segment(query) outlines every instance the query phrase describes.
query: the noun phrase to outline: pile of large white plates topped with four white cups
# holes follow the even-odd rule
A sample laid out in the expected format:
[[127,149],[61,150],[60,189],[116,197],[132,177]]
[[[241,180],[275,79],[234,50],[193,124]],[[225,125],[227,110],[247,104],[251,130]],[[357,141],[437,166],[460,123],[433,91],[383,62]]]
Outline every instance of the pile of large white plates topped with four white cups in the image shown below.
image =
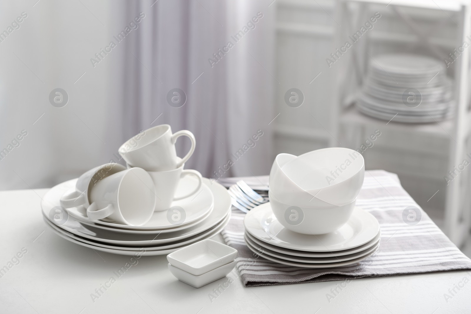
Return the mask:
[[[180,136],[191,140],[183,158]],[[122,255],[165,255],[211,238],[227,225],[231,199],[222,185],[184,169],[194,150],[190,131],[147,129],[120,147],[127,167],[104,164],[51,188],[44,220],[68,241]]]

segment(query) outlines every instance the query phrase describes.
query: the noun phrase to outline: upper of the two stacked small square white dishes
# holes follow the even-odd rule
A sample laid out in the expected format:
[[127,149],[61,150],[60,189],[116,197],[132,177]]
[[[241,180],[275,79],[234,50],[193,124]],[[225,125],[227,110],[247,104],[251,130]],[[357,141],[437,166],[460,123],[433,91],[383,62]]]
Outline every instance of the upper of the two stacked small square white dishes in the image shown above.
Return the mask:
[[220,242],[206,239],[167,255],[171,266],[199,276],[232,262],[237,250]]

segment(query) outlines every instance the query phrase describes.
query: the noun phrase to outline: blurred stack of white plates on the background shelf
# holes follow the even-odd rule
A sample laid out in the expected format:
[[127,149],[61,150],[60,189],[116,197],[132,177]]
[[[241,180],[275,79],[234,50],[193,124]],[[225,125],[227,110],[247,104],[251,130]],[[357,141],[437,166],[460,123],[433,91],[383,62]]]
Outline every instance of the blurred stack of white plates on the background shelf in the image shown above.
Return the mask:
[[374,118],[397,122],[436,122],[451,116],[451,80],[445,64],[428,56],[375,56],[368,66],[357,106]]

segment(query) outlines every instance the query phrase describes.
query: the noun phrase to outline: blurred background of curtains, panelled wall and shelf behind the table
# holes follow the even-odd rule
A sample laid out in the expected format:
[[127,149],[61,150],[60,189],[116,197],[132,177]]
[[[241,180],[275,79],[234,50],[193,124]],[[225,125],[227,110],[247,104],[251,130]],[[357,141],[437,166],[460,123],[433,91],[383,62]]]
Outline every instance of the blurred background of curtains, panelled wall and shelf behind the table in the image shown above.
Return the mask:
[[[51,187],[122,163],[119,146],[159,124],[193,132],[186,168],[213,178],[268,175],[278,153],[343,146],[360,150],[366,169],[397,173],[452,241],[471,250],[467,5],[2,1],[0,188]],[[434,113],[424,118],[402,104],[393,77],[398,86],[387,86],[395,71],[388,54],[431,58],[431,73],[439,67],[417,107]],[[406,61],[398,75],[420,79],[400,73],[416,65]],[[395,115],[383,103],[400,108]],[[248,143],[254,134],[262,135]],[[178,142],[180,156],[186,141]]]

